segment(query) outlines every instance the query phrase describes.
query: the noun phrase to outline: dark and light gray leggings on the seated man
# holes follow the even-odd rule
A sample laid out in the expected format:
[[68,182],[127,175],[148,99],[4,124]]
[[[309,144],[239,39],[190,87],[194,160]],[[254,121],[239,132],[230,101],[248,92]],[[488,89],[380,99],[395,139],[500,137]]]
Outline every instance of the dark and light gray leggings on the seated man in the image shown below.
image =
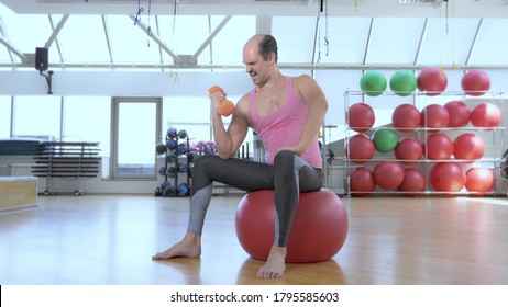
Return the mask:
[[275,190],[275,242],[286,247],[300,192],[318,191],[322,186],[321,170],[289,150],[279,151],[274,164],[242,159],[202,156],[197,159],[190,189],[190,216],[187,231],[201,236],[205,215],[210,204],[212,183],[247,191]]

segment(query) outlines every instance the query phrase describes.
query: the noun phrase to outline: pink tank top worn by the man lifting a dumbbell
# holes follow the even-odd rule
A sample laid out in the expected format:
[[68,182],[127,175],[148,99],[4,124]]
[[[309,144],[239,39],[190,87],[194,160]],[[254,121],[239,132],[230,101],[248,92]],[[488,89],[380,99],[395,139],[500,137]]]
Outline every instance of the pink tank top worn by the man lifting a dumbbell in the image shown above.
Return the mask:
[[[251,122],[254,132],[263,140],[265,161],[268,164],[274,163],[278,148],[298,143],[307,121],[308,105],[295,93],[291,77],[286,77],[286,88],[288,92],[286,102],[267,115],[257,114],[256,91],[253,89],[251,92]],[[313,168],[322,168],[318,135],[301,155],[301,158]]]

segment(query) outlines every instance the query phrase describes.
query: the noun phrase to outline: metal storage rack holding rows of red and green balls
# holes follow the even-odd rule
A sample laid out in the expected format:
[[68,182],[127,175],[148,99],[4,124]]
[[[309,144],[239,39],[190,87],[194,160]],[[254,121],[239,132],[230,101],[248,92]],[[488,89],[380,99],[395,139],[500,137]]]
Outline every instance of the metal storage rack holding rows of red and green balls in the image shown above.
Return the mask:
[[[376,109],[379,109],[380,103],[386,104],[386,110],[391,110],[395,109],[397,105],[404,104],[404,103],[412,103],[415,106],[417,106],[420,111],[424,110],[426,106],[430,104],[445,104],[445,102],[450,101],[463,101],[465,102],[471,110],[474,109],[474,106],[479,105],[482,103],[489,103],[496,105],[501,114],[503,114],[503,91],[488,91],[485,94],[477,95],[477,96],[471,96],[465,94],[464,92],[461,91],[444,91],[440,93],[440,95],[427,95],[426,92],[418,92],[415,91],[411,93],[411,95],[404,96],[401,98],[400,95],[397,95],[393,92],[385,91],[382,94],[372,98],[372,96],[366,96],[363,91],[345,91],[344,92],[344,114],[347,114],[349,109],[351,105],[355,103],[367,103],[369,105],[376,105]],[[399,103],[400,102],[400,103]],[[377,115],[377,114],[376,114]],[[347,115],[346,115],[347,116]],[[377,117],[377,116],[376,116]],[[364,134],[365,136],[372,138],[372,135],[382,128],[389,128],[395,130],[399,139],[404,137],[415,137],[418,140],[420,140],[422,144],[428,139],[430,135],[435,133],[435,128],[429,128],[424,126],[418,126],[411,129],[411,132],[407,132],[407,129],[401,129],[397,128],[393,125],[390,120],[386,118],[376,118],[376,123],[372,127],[363,127],[365,128],[363,132],[358,133],[355,130],[355,127],[349,126],[347,121],[344,125],[344,145],[347,144],[347,141],[356,134]],[[380,120],[380,121],[379,121]],[[385,121],[386,120],[386,121]],[[457,138],[461,134],[470,133],[470,134],[476,134],[482,137],[482,139],[485,141],[485,155],[476,160],[462,160],[462,159],[456,159],[453,155],[450,157],[450,159],[445,160],[433,160],[429,159],[429,152],[427,151],[428,148],[423,146],[423,156],[421,159],[418,160],[400,160],[397,159],[394,155],[393,151],[390,152],[379,152],[378,150],[375,151],[374,157],[367,160],[355,160],[351,159],[350,157],[350,149],[345,149],[344,151],[344,160],[343,160],[343,167],[344,167],[344,177],[343,177],[343,186],[344,186],[344,192],[346,196],[353,196],[356,192],[356,194],[398,194],[398,195],[485,195],[485,196],[506,196],[508,195],[508,150],[505,151],[504,149],[504,133],[505,133],[505,127],[506,123],[501,123],[498,126],[494,127],[482,127],[482,126],[474,126],[471,122],[466,126],[462,127],[442,127],[439,128],[439,133],[445,134],[450,136],[452,140]],[[346,148],[346,147],[345,147]],[[505,154],[504,154],[505,151]],[[426,189],[423,191],[415,191],[415,193],[406,193],[404,191],[399,191],[397,189],[393,190],[386,190],[382,189],[376,184],[375,190],[373,191],[352,191],[351,189],[351,178],[350,173],[353,169],[358,168],[358,167],[365,167],[371,170],[374,169],[374,167],[377,163],[384,162],[384,161],[393,161],[397,163],[401,163],[404,169],[409,169],[409,168],[416,168],[420,170],[426,178]],[[407,162],[411,162],[410,164]],[[472,168],[487,168],[490,169],[494,172],[494,189],[488,192],[476,192],[476,191],[468,191],[466,186],[464,185],[463,189],[460,191],[437,191],[431,183],[430,180],[430,172],[432,168],[441,162],[456,162],[461,164],[464,168],[464,172],[466,172],[468,169]]]

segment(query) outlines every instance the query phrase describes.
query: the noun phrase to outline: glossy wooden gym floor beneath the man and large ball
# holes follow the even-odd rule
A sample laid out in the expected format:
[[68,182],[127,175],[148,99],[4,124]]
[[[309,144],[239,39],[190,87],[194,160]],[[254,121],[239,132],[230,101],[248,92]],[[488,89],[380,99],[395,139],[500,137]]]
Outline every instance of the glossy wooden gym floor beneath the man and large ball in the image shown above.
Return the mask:
[[0,284],[508,284],[505,197],[343,198],[342,250],[280,280],[256,278],[236,240],[240,197],[212,198],[200,259],[152,261],[185,232],[188,198],[40,196],[0,214]]

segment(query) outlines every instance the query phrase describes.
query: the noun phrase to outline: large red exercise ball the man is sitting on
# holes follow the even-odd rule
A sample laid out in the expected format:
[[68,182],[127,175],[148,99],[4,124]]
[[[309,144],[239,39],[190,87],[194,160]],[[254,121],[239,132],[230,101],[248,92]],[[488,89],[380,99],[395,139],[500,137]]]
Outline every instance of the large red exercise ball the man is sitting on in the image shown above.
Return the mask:
[[[274,191],[249,192],[239,203],[235,230],[252,258],[266,260],[275,239]],[[288,237],[286,262],[324,261],[335,255],[347,236],[347,212],[335,193],[322,189],[300,193]]]

